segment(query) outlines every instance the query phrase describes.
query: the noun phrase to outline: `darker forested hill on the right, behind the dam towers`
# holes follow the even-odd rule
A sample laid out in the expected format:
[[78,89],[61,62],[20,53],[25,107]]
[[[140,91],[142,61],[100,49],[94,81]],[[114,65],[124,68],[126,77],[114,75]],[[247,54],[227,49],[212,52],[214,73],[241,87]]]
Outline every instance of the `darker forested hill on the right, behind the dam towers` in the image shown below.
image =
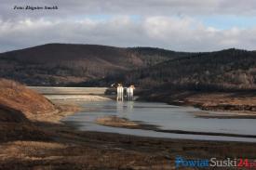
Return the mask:
[[[147,88],[166,86],[196,90],[255,89],[256,52],[226,49],[170,59],[155,66],[98,81],[120,82]],[[95,83],[95,82],[94,82]]]

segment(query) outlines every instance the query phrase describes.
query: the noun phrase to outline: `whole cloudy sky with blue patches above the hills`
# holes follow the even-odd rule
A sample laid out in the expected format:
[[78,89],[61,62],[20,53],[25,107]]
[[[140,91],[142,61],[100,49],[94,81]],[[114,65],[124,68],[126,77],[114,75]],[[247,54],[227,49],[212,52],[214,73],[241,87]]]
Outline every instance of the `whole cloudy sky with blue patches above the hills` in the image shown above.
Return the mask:
[[[0,52],[47,43],[256,50],[255,0],[0,0]],[[53,7],[25,10],[14,7]]]

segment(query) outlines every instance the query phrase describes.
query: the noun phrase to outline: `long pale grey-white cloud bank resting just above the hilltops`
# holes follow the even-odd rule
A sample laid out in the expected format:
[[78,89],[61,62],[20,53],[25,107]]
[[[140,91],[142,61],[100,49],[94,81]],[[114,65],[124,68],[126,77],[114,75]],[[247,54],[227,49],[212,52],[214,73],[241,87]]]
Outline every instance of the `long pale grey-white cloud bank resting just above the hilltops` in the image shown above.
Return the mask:
[[148,17],[141,22],[128,17],[75,22],[22,20],[15,26],[14,23],[1,23],[0,45],[3,46],[0,50],[47,43],[158,46],[179,51],[212,51],[229,47],[255,49],[256,38],[251,36],[255,34],[256,28],[217,30],[192,18]]

